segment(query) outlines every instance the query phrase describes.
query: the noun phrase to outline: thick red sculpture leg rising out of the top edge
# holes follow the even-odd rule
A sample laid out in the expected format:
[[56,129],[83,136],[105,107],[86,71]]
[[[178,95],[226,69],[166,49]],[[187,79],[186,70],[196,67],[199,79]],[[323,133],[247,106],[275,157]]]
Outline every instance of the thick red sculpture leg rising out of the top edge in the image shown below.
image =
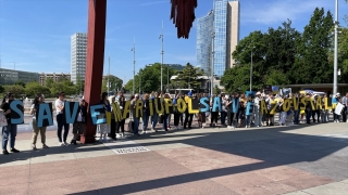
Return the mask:
[[[107,0],[89,0],[88,4],[88,31],[87,31],[87,63],[85,76],[84,98],[88,105],[100,102],[102,73],[104,64],[107,25]],[[88,106],[89,107],[89,106]],[[86,131],[80,138],[82,143],[96,141],[96,126],[92,125],[89,109],[87,110]]]

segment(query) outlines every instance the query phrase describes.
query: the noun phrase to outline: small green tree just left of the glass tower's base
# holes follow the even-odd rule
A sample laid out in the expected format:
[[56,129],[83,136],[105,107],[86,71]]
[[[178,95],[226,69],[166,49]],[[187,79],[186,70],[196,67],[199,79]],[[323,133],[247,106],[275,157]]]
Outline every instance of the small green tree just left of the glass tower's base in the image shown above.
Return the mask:
[[177,87],[185,89],[198,89],[201,86],[199,76],[202,76],[200,68],[194,67],[191,64],[187,63],[183,72],[178,73],[175,82]]

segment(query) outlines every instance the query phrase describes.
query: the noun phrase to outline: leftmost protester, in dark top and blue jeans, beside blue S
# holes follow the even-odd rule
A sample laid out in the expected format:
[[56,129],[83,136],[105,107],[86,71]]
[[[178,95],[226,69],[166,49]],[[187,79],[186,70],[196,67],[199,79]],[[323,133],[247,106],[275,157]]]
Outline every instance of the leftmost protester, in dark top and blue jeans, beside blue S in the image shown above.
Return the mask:
[[8,93],[1,104],[1,109],[8,120],[8,126],[2,127],[2,154],[8,155],[8,141],[10,140],[10,151],[12,153],[18,153],[20,151],[14,148],[15,136],[17,134],[17,125],[11,122],[11,112],[10,103],[14,100],[13,93]]

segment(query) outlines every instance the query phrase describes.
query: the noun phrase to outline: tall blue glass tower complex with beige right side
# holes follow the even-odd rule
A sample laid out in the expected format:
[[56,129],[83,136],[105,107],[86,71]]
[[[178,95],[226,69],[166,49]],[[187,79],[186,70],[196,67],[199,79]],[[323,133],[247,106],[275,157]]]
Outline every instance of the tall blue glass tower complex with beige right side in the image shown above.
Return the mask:
[[[235,62],[232,58],[232,53],[239,41],[239,10],[238,0],[214,0],[213,12],[197,20],[198,67],[210,73],[212,56],[214,56],[214,75],[222,76],[225,69],[233,67]],[[213,17],[213,22],[211,22],[211,17]],[[208,24],[212,24],[213,27],[211,28]],[[213,43],[211,35],[214,35]],[[209,51],[209,54],[204,51]],[[211,54],[212,52],[214,55]]]

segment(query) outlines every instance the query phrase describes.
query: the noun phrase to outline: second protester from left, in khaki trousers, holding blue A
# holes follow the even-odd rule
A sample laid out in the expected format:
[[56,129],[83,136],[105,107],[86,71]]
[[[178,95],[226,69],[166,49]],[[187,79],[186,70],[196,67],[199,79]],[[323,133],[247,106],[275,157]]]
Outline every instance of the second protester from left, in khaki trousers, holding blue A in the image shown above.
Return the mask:
[[35,100],[33,101],[33,105],[30,107],[30,115],[33,115],[33,138],[32,138],[32,148],[33,151],[36,151],[36,141],[37,141],[37,136],[40,132],[41,135],[41,143],[42,143],[42,148],[48,148],[48,146],[46,145],[46,127],[37,127],[37,122],[36,122],[36,112],[39,108],[39,104],[42,104],[44,102],[44,96],[42,94],[38,94]]

